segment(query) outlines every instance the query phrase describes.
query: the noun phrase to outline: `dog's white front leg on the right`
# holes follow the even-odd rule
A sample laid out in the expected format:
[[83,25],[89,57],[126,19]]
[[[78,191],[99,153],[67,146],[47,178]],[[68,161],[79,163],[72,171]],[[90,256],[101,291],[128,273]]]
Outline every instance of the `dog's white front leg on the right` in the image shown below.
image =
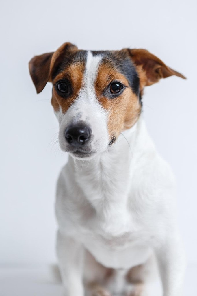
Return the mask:
[[156,249],[164,296],[183,294],[185,252],[179,238],[171,237]]

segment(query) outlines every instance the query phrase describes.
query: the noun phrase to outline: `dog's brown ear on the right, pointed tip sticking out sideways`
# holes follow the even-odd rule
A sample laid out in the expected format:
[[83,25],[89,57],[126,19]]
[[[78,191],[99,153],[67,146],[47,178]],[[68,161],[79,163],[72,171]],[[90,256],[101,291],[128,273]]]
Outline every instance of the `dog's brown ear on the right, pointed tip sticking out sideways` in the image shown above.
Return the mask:
[[161,78],[172,75],[186,79],[185,76],[167,67],[164,62],[146,49],[128,49],[128,51],[138,73],[140,72],[139,76],[143,78],[143,86],[154,84]]

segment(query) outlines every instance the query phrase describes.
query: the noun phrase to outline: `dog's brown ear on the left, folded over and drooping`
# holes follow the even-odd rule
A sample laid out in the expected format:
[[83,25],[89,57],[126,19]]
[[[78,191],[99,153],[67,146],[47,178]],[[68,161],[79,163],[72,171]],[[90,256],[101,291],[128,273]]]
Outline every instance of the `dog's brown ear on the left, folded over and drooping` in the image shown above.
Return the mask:
[[66,42],[60,46],[56,52],[49,52],[33,57],[29,62],[29,71],[37,94],[39,94],[46,83],[50,81],[51,71],[54,66],[61,60],[62,55],[68,50],[76,50],[74,44]]

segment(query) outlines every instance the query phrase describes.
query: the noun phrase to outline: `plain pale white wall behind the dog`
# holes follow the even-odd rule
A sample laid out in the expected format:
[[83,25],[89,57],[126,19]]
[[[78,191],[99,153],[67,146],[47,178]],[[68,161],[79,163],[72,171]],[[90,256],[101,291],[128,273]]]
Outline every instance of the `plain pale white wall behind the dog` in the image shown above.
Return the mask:
[[67,156],[52,141],[51,85],[36,94],[28,61],[65,41],[146,48],[188,78],[147,87],[143,111],[177,177],[180,229],[188,260],[197,263],[196,13],[193,0],[1,3],[1,266],[56,262],[55,185]]

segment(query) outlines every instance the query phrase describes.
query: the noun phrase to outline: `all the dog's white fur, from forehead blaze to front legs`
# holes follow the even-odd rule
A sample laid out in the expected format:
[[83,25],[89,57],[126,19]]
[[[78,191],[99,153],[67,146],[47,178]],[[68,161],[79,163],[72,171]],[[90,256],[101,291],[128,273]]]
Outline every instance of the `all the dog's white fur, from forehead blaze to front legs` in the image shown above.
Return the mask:
[[[83,277],[99,278],[96,270],[101,263],[117,270],[111,287],[121,293],[121,274],[154,255],[163,295],[180,296],[184,256],[176,225],[174,177],[156,152],[142,117],[107,150],[107,113],[93,89],[100,59],[88,53],[83,88],[66,114],[58,115],[63,150],[64,130],[75,118],[91,125],[91,149],[96,151],[88,160],[69,156],[57,184],[57,254],[64,288],[68,296],[83,296]],[[98,262],[91,270],[88,253]],[[120,268],[125,272],[118,272]],[[145,295],[153,294],[147,289]]]

